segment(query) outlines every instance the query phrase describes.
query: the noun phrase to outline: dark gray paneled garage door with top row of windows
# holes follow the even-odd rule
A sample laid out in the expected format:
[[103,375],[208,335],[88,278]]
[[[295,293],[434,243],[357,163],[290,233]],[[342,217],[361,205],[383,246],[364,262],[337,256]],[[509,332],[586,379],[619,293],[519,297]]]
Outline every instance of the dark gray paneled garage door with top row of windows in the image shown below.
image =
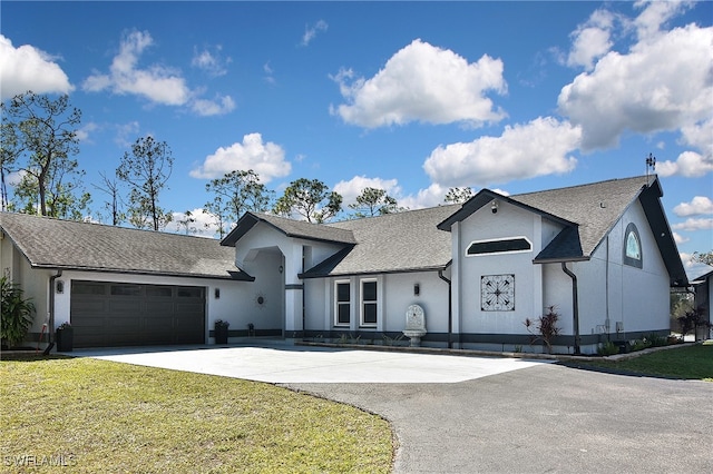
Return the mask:
[[205,288],[71,283],[75,347],[203,344]]

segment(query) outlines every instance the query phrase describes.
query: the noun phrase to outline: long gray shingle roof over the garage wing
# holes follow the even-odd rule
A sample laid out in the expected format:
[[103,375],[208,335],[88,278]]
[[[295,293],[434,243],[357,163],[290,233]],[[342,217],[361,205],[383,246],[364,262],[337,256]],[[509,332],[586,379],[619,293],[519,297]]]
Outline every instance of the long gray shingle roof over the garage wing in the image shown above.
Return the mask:
[[10,213],[0,227],[36,268],[251,279],[214,239]]

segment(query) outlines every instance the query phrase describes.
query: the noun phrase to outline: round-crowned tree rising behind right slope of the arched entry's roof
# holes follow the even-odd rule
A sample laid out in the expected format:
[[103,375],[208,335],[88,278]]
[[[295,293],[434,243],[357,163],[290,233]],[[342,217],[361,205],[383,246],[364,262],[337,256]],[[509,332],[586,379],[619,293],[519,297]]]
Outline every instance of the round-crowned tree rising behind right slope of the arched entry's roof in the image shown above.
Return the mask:
[[300,178],[292,181],[275,203],[274,213],[289,216],[293,211],[307,223],[325,223],[342,210],[342,196],[329,190],[319,179]]

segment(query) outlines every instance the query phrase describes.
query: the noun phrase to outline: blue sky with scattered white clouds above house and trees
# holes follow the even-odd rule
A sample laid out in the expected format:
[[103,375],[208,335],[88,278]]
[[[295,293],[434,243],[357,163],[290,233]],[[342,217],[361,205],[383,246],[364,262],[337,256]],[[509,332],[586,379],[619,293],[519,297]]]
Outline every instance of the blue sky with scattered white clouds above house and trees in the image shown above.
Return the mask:
[[175,158],[160,205],[198,215],[207,180],[233,169],[277,195],[316,178],[345,204],[371,186],[419,208],[456,186],[644,175],[653,154],[684,263],[713,248],[712,2],[3,1],[0,14],[2,100],[69,93],[95,209],[99,172],[147,135]]

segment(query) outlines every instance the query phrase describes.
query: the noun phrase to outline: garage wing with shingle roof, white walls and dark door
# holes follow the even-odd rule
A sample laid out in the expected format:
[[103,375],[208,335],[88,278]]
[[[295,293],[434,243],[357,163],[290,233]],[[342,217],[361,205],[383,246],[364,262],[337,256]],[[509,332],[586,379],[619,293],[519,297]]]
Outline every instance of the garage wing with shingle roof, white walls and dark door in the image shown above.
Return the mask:
[[0,211],[0,274],[35,302],[38,347],[65,323],[77,348],[206,344],[217,319],[272,329],[241,305],[254,278],[235,249],[209,238]]

